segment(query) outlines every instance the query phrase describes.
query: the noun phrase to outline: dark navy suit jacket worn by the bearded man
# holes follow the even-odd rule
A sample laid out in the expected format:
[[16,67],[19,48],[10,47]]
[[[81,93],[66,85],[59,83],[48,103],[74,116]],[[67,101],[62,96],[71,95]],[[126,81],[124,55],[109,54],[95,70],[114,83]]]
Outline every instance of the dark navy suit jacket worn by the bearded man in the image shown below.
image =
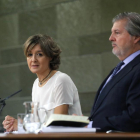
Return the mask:
[[[99,87],[95,102],[107,78]],[[104,87],[89,119],[93,127],[103,131],[140,131],[140,55]]]

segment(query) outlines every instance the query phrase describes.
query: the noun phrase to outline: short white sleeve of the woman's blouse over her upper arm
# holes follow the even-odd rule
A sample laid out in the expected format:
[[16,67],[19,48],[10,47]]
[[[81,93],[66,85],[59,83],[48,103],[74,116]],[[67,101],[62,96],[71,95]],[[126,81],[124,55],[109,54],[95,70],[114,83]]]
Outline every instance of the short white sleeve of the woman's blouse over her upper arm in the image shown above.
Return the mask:
[[60,75],[55,83],[55,107],[62,104],[73,105],[74,89],[76,87],[71,78],[66,74]]

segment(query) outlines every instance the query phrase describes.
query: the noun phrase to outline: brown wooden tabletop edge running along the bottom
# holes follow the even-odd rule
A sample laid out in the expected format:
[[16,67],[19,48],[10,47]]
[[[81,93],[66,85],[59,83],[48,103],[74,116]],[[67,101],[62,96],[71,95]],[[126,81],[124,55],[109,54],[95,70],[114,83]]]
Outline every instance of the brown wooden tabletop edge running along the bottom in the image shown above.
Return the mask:
[[40,133],[40,134],[6,134],[1,140],[140,140],[140,133]]

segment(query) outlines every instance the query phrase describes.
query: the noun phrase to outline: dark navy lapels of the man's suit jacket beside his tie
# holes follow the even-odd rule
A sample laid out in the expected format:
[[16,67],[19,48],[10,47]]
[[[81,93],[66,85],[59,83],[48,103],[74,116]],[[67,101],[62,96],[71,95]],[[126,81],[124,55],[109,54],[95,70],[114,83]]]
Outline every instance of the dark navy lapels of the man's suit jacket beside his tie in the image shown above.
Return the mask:
[[[102,104],[102,102],[104,101],[105,97],[108,95],[109,91],[115,86],[115,84],[117,84],[124,76],[126,76],[131,70],[132,68],[137,65],[138,63],[140,63],[140,55],[138,55],[134,60],[132,60],[128,65],[126,65],[116,76],[113,77],[113,79],[111,79],[107,85],[104,87],[104,89],[102,90],[102,93],[99,97],[99,100],[96,103],[96,106],[94,104],[94,110],[93,113],[96,112],[96,110],[99,108],[99,106]],[[112,73],[112,71],[111,71]],[[111,74],[110,73],[110,74]],[[108,75],[108,77],[110,76],[110,74]],[[107,77],[107,78],[108,78]],[[101,90],[101,88],[103,87],[105,81],[107,80],[107,78],[104,80],[104,82],[102,83],[102,85],[100,86],[99,90],[98,90],[98,94]],[[97,94],[97,96],[98,96]],[[97,96],[95,98],[95,102],[97,100]]]

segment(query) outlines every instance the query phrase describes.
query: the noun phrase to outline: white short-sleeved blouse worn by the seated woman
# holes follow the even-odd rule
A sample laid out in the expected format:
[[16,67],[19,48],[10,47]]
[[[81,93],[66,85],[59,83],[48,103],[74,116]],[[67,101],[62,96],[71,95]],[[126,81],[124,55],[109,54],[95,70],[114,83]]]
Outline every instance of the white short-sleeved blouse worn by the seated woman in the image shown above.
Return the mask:
[[38,86],[38,82],[37,78],[33,84],[32,101],[39,102],[39,107],[47,112],[46,117],[45,110],[41,109],[42,122],[48,120],[54,108],[63,104],[69,105],[69,115],[82,115],[77,88],[67,74],[57,71],[42,87]]

